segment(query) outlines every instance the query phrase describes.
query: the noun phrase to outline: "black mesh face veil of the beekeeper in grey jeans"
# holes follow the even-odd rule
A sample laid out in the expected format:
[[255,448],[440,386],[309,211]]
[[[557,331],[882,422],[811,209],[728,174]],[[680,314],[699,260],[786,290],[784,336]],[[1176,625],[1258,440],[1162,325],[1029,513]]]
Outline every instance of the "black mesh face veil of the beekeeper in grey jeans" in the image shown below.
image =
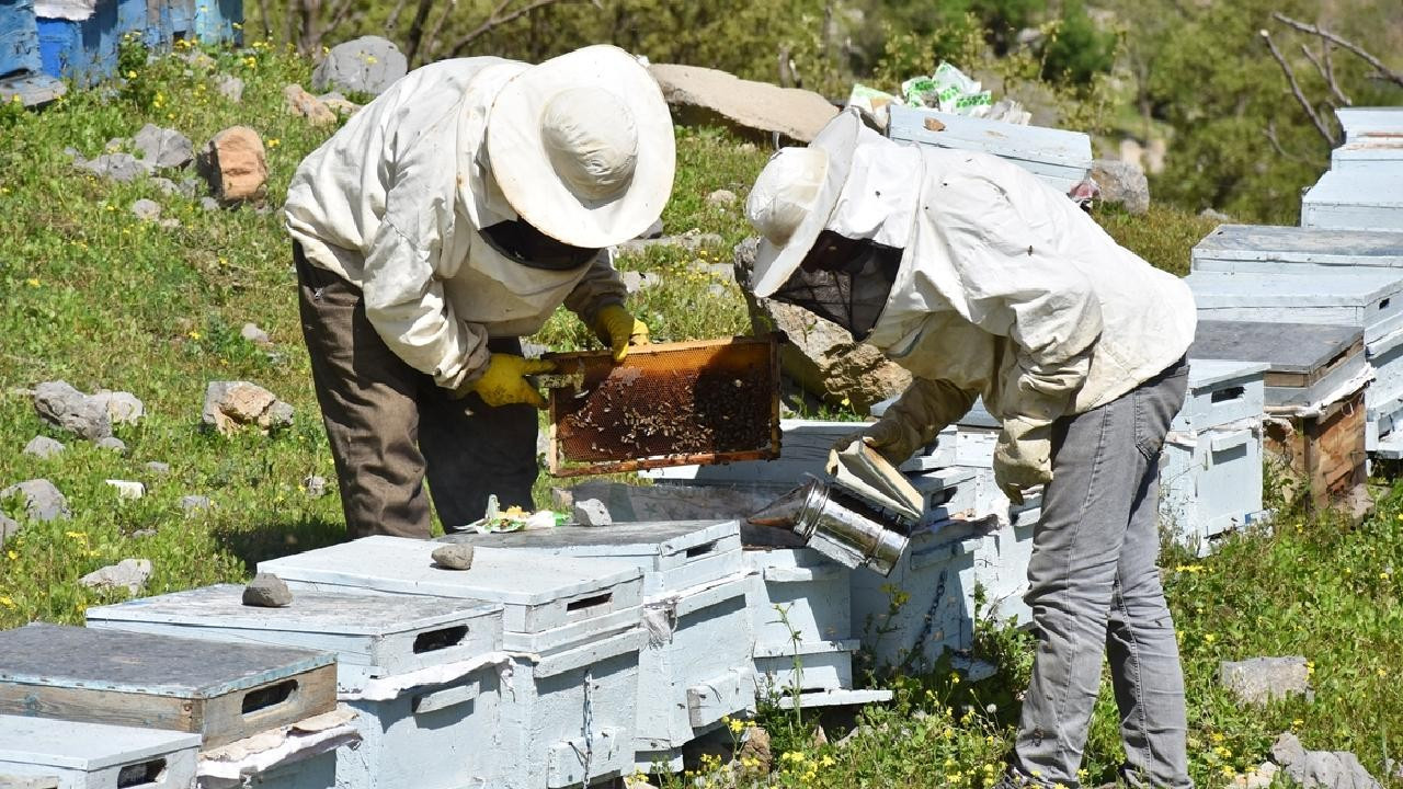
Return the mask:
[[804,263],[770,298],[831,320],[861,341],[881,317],[901,268],[901,253],[824,230]]

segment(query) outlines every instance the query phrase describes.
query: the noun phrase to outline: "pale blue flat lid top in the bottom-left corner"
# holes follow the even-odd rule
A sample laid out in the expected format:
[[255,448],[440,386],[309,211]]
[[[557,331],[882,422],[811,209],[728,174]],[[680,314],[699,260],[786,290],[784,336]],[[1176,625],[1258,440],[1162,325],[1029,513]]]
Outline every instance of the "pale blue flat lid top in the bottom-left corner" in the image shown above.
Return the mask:
[[184,731],[0,715],[0,774],[4,762],[93,772],[198,748],[199,740]]

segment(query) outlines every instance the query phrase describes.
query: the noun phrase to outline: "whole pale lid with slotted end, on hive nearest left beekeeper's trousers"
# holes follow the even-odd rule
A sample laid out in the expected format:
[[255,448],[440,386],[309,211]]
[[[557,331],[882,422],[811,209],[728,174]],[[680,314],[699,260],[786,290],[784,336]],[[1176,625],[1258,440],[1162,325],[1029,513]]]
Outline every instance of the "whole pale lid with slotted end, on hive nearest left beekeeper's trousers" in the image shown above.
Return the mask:
[[481,548],[470,570],[438,567],[439,543],[370,536],[258,564],[293,590],[376,591],[502,605],[508,650],[546,653],[637,628],[643,571],[623,562]]

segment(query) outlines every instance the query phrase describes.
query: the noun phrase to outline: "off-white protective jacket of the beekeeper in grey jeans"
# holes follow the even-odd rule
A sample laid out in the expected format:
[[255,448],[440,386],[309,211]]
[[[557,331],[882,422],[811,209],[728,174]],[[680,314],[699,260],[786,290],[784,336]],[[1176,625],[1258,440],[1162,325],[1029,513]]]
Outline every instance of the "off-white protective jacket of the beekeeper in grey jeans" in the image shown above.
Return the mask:
[[916,380],[888,413],[913,446],[976,394],[1014,438],[1125,394],[1193,343],[1184,282],[1027,170],[864,135],[831,226],[905,239],[868,343]]

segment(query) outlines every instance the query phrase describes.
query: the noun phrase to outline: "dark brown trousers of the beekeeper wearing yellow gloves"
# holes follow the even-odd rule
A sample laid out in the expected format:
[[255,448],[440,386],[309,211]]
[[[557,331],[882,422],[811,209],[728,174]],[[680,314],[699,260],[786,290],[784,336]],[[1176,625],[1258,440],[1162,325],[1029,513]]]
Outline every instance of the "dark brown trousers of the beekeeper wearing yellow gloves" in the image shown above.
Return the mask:
[[[445,526],[483,517],[488,494],[501,505],[532,505],[536,409],[462,400],[404,364],[365,314],[361,291],[307,263],[293,246],[302,334],[331,441],[351,538],[429,536],[428,479]],[[521,352],[516,338],[494,351]]]

